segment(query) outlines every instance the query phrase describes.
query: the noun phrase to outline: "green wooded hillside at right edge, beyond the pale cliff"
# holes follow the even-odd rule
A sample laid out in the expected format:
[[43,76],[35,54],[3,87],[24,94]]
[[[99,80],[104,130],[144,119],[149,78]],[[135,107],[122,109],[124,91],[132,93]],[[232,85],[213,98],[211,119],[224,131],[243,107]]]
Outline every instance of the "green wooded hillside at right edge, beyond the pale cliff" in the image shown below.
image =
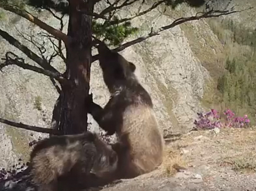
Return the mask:
[[223,68],[216,87],[221,93],[215,105],[238,115],[256,113],[256,32],[232,20],[210,19],[212,30],[223,43]]

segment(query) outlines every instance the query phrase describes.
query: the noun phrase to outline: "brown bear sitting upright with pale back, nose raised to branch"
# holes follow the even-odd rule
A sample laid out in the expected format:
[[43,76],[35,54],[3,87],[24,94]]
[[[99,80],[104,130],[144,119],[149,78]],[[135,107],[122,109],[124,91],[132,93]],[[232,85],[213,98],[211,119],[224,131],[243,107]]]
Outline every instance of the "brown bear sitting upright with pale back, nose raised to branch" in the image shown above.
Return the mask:
[[[118,153],[118,178],[134,178],[162,163],[163,138],[148,92],[134,75],[135,65],[120,54],[99,44],[99,64],[111,93],[104,108],[87,101],[89,113],[108,135],[117,133],[113,145]],[[91,102],[91,104],[89,104]]]

